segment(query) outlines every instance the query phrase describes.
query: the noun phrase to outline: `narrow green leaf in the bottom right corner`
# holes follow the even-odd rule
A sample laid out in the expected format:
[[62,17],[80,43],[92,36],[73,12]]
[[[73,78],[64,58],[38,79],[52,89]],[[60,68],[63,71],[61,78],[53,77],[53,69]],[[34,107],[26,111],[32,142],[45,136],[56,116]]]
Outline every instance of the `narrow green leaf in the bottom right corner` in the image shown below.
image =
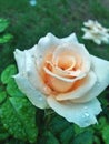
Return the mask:
[[105,144],[109,144],[109,125],[106,125],[102,130],[102,138]]

